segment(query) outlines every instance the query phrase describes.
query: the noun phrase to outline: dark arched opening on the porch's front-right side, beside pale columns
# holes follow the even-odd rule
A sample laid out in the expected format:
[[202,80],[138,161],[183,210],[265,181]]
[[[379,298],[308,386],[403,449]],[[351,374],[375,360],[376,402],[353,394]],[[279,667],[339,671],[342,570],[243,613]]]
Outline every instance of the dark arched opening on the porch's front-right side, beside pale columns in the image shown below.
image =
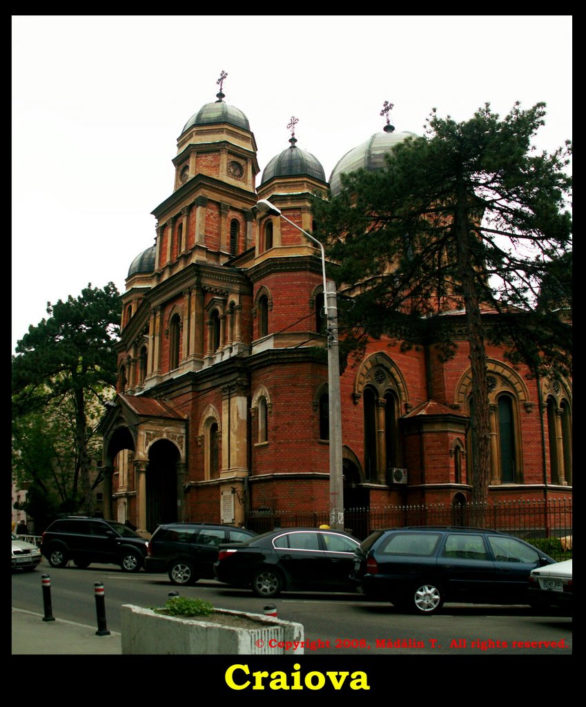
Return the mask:
[[177,522],[177,447],[169,440],[157,440],[148,450],[146,467],[146,530],[154,532],[160,523]]

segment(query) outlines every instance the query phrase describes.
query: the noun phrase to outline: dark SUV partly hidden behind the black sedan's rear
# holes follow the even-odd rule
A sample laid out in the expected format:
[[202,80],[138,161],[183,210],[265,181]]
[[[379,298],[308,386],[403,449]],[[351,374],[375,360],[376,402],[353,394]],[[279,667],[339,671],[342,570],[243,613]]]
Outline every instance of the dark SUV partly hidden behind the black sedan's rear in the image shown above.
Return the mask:
[[213,579],[213,563],[222,542],[243,542],[257,533],[233,525],[166,523],[148,542],[147,572],[167,572],[173,584],[193,584]]

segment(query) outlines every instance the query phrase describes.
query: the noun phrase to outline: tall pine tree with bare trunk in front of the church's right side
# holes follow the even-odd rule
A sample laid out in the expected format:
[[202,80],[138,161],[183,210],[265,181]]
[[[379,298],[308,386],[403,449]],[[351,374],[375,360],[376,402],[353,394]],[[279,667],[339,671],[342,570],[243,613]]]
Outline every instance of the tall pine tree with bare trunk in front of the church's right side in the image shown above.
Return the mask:
[[[571,373],[571,145],[533,148],[544,115],[543,103],[516,103],[504,119],[486,104],[461,123],[434,110],[425,136],[397,144],[382,170],[345,175],[341,194],[314,206],[332,277],[353,296],[341,308],[347,344],[387,334],[409,346],[424,318],[464,310],[481,505],[490,481],[486,337],[534,373]],[[565,316],[544,305],[541,288],[563,291]],[[488,329],[482,312],[498,315],[498,327]],[[436,330],[443,356],[453,355],[450,329]]]

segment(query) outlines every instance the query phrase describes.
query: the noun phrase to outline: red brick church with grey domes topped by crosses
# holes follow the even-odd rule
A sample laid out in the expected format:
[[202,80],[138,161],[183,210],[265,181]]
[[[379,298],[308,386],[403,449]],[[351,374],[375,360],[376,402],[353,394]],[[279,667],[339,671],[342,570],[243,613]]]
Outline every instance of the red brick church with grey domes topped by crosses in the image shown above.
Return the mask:
[[[296,145],[259,165],[246,115],[216,100],[177,139],[156,238],[130,264],[117,344],[117,397],[100,422],[106,517],[246,524],[257,509],[326,511],[328,366],[311,197],[375,170],[411,133],[370,136],[329,176]],[[344,287],[339,289],[344,293]],[[491,317],[486,313],[486,317]],[[344,508],[467,503],[471,370],[462,312],[428,320],[431,344],[372,341],[342,366]],[[434,330],[458,349],[442,362]],[[569,381],[531,378],[487,349],[490,498],[571,493]]]

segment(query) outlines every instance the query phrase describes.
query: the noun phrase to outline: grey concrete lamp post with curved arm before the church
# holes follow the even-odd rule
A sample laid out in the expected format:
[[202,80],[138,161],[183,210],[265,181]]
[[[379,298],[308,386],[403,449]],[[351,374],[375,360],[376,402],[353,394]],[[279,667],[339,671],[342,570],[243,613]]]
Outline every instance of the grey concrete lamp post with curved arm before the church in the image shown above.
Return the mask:
[[342,416],[340,403],[340,362],[338,340],[338,308],[336,287],[327,288],[326,257],[324,246],[306,230],[281,214],[281,210],[266,199],[257,202],[263,214],[280,216],[291,226],[320,247],[322,253],[322,276],[324,279],[324,307],[327,321],[327,371],[329,399],[329,525],[335,530],[344,530],[344,483],[342,479]]

